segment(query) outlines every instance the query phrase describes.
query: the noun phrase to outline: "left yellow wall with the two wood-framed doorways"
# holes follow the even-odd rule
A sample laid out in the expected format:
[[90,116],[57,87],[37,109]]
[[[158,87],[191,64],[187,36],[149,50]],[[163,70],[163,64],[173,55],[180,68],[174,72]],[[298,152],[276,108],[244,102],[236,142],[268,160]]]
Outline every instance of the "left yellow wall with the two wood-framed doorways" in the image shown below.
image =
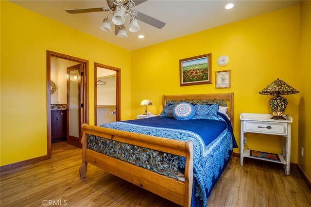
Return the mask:
[[0,18],[1,166],[47,155],[46,50],[89,60],[90,124],[94,62],[121,68],[121,115],[130,118],[129,51],[8,1],[1,1]]

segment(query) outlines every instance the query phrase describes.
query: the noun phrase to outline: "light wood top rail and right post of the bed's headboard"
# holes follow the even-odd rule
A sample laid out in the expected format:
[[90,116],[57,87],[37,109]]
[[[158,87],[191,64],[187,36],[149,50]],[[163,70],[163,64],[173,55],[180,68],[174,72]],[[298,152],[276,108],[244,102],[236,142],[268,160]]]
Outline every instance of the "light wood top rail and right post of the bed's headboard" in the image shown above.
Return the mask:
[[220,106],[228,107],[227,114],[230,117],[233,127],[233,97],[234,93],[230,94],[195,94],[195,95],[163,95],[162,104],[165,107],[167,101],[185,101],[196,102],[203,104],[219,103]]

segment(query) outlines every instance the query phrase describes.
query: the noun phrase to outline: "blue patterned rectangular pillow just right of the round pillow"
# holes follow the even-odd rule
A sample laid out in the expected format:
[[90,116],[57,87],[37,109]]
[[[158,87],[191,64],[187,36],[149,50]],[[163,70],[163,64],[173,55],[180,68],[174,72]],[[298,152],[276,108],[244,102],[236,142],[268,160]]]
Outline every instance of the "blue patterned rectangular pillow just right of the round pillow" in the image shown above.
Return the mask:
[[195,115],[192,119],[212,119],[218,121],[218,108],[219,104],[195,104]]

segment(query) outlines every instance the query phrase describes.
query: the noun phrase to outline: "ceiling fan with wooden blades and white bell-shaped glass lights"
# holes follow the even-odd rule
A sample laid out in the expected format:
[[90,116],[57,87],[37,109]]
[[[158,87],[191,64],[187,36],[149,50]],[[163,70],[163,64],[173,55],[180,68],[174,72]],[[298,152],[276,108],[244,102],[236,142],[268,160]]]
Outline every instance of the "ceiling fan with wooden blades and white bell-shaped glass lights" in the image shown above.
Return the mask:
[[140,27],[138,26],[137,19],[145,22],[151,26],[154,26],[158,29],[162,29],[165,26],[165,23],[155,19],[151,16],[145,15],[141,12],[132,10],[132,7],[137,6],[147,0],[107,0],[109,8],[100,7],[100,8],[89,8],[89,9],[71,9],[65,10],[70,14],[80,14],[88,12],[108,12],[112,11],[113,13],[108,14],[104,18],[103,24],[100,27],[105,32],[111,32],[111,25],[109,16],[112,16],[112,22],[115,24],[115,34],[120,37],[127,37],[124,22],[127,16],[130,16],[130,32],[138,32]]

